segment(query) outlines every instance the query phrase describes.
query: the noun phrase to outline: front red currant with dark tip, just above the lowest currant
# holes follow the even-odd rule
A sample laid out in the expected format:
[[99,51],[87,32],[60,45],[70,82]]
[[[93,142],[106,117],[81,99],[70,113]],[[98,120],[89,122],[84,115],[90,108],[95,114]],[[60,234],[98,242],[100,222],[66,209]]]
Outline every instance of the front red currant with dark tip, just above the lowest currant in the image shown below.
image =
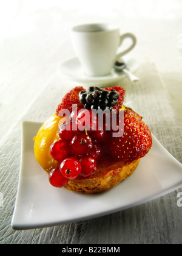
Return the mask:
[[81,172],[81,163],[75,157],[66,158],[60,165],[60,171],[67,179],[76,179]]

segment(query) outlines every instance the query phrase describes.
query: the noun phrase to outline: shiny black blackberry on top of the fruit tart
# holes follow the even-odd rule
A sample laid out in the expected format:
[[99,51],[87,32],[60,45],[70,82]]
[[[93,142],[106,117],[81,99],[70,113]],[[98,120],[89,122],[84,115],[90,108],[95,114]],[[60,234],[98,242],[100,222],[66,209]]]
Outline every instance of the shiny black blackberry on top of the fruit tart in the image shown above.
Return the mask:
[[79,101],[84,104],[87,109],[109,109],[118,103],[120,94],[118,91],[112,89],[110,91],[98,88],[89,87],[87,91],[79,92]]

